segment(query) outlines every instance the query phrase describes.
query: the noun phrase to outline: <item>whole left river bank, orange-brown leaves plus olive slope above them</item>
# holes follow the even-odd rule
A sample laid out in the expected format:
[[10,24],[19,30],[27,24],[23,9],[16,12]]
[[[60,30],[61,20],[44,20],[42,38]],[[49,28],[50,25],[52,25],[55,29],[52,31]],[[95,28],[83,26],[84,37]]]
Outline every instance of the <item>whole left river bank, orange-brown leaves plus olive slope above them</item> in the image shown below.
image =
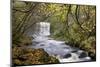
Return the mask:
[[12,65],[56,64],[59,60],[49,56],[44,49],[28,48],[32,45],[32,37],[23,36],[20,42],[13,43]]

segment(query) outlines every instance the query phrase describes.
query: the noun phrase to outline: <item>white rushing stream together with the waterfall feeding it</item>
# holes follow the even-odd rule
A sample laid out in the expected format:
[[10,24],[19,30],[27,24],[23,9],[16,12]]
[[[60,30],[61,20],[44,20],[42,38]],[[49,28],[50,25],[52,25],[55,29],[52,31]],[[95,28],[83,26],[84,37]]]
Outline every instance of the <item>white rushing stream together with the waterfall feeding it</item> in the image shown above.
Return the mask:
[[53,40],[50,35],[50,23],[37,23],[36,32],[33,34],[32,48],[43,48],[49,55],[55,56],[61,63],[90,61],[90,57],[79,49],[72,48],[65,44],[64,41]]

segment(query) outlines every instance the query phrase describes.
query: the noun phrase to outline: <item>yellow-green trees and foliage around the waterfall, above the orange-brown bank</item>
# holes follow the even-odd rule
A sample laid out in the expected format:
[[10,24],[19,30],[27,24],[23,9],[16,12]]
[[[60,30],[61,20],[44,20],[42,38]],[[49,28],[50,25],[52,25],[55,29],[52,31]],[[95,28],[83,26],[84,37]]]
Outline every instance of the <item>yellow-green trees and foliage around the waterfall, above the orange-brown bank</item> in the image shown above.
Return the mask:
[[31,44],[27,32],[34,33],[35,24],[46,21],[51,24],[51,37],[95,55],[95,6],[14,1],[12,12],[13,46]]

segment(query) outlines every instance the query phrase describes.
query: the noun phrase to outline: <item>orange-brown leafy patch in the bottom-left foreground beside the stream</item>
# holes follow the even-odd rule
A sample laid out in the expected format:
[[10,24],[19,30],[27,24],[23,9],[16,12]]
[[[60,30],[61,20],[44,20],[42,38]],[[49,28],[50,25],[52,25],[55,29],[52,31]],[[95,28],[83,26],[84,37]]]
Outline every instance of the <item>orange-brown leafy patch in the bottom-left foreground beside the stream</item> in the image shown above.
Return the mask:
[[59,63],[55,57],[49,56],[44,49],[13,48],[14,65]]

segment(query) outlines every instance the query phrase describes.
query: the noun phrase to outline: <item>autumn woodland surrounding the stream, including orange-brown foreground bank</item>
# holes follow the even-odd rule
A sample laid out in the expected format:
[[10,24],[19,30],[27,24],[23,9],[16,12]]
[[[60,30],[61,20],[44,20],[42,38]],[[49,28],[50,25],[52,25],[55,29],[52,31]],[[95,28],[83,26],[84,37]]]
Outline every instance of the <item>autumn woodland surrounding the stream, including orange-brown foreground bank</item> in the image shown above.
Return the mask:
[[41,21],[50,22],[50,37],[78,47],[96,60],[96,6],[14,0],[11,11],[13,65],[59,63],[43,49],[26,48],[32,44],[35,24]]

